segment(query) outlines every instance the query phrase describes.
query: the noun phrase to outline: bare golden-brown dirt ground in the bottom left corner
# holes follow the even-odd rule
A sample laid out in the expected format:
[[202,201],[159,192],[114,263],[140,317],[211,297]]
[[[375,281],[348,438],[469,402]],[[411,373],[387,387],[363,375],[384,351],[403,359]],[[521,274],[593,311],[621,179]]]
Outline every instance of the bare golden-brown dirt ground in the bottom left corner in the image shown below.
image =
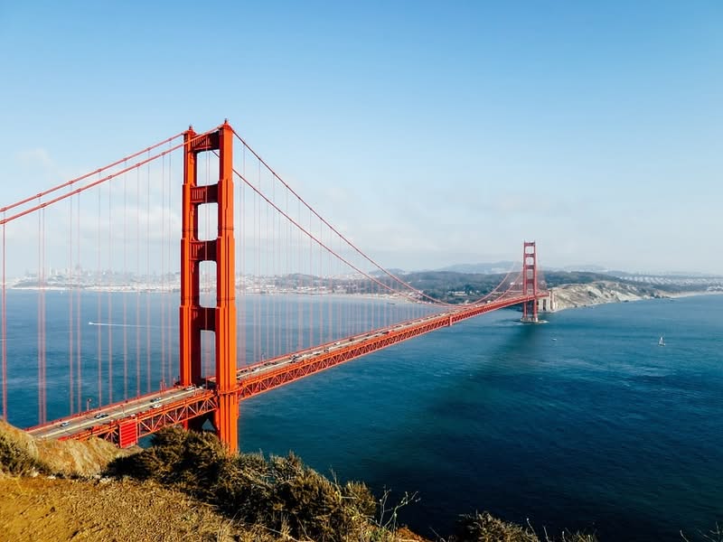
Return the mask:
[[246,538],[209,506],[154,484],[4,477],[0,495],[0,538],[14,542]]

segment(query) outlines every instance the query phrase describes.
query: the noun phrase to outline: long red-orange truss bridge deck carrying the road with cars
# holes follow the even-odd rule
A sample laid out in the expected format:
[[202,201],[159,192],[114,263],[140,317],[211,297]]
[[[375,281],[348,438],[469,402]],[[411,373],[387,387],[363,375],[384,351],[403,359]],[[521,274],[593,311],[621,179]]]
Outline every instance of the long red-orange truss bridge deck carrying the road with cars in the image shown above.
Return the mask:
[[[547,293],[537,294],[537,298],[545,296]],[[237,371],[236,392],[239,400],[244,400],[401,341],[533,299],[535,297],[529,295],[501,298],[486,304],[464,305],[446,313],[430,314],[278,358],[262,360]],[[198,388],[166,388],[122,403],[36,425],[27,431],[42,438],[85,440],[90,436],[99,436],[121,446],[135,444],[138,438],[151,435],[166,425],[183,424],[194,417],[212,413],[218,404],[213,380],[209,378]]]

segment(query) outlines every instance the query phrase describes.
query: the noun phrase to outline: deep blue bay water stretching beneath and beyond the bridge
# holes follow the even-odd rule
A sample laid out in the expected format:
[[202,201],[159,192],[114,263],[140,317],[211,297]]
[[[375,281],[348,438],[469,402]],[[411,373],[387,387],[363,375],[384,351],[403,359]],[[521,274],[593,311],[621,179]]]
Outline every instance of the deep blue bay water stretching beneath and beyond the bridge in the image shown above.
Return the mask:
[[[28,330],[37,310],[30,293],[11,294],[8,339],[24,342],[8,345],[9,419],[31,425],[37,338]],[[122,296],[111,297],[119,313]],[[68,309],[59,293],[48,293],[46,305],[48,378],[63,381],[69,341],[52,321]],[[172,305],[164,296],[128,305],[154,326],[147,335],[129,330],[129,341],[150,344],[154,359],[174,336],[175,320],[167,335],[160,311],[175,313]],[[80,322],[107,311],[91,298]],[[458,514],[475,509],[549,532],[585,529],[603,542],[681,540],[681,530],[693,539],[723,521],[723,296],[546,318],[524,325],[514,311],[486,314],[254,397],[240,406],[240,447],[293,450],[321,472],[390,489],[392,501],[415,492],[418,502],[400,519],[428,536],[448,534]],[[83,341],[86,397],[97,345],[93,333]],[[113,338],[114,397],[122,394],[121,343]],[[164,356],[165,369],[142,371],[144,391],[172,378],[176,358]],[[63,416],[68,387],[48,393],[49,417]]]

